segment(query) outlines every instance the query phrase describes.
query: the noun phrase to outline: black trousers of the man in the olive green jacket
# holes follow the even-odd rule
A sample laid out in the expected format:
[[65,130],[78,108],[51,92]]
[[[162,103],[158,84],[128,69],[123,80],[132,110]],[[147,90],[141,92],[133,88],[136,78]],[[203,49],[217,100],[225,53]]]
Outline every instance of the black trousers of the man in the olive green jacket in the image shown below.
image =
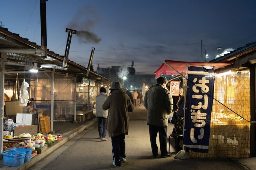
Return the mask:
[[158,155],[158,147],[156,145],[156,136],[157,133],[159,135],[159,143],[160,143],[160,151],[161,156],[167,155],[167,126],[155,126],[155,125],[148,125],[149,132],[150,132],[150,142],[151,142],[151,149],[154,156]]

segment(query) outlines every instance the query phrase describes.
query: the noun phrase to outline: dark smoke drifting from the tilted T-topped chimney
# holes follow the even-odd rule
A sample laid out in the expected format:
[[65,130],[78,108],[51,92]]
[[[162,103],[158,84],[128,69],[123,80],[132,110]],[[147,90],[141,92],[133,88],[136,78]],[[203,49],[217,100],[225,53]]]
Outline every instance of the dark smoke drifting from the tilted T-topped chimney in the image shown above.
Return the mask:
[[99,16],[93,6],[84,6],[77,10],[72,20],[68,23],[68,28],[77,30],[76,35],[82,43],[98,44],[101,38],[97,34],[91,32],[95,22],[99,20]]

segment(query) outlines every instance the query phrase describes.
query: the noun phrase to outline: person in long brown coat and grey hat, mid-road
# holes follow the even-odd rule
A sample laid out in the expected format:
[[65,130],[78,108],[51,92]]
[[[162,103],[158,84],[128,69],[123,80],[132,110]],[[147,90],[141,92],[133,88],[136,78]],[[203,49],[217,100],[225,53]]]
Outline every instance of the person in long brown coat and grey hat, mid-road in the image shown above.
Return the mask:
[[119,167],[125,162],[125,135],[128,135],[129,116],[133,111],[133,104],[128,95],[121,89],[119,82],[113,82],[110,87],[110,95],[102,105],[103,110],[109,109],[106,121],[106,130],[109,132],[112,142],[112,165]]

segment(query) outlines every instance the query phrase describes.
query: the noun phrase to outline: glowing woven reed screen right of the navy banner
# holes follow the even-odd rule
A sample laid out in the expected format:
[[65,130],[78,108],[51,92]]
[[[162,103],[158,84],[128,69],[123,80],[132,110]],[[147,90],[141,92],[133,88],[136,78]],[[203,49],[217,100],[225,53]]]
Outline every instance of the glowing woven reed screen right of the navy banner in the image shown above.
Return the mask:
[[[250,73],[215,78],[214,98],[250,121]],[[191,157],[247,158],[250,154],[250,123],[213,100],[208,153],[189,150]]]

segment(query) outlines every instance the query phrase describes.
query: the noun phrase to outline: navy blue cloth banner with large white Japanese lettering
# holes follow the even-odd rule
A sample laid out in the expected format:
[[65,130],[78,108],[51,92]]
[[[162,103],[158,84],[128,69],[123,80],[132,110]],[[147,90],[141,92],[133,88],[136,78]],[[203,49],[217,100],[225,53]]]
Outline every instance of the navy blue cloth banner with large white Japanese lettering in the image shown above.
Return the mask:
[[213,69],[189,67],[183,145],[208,153],[213,102]]

